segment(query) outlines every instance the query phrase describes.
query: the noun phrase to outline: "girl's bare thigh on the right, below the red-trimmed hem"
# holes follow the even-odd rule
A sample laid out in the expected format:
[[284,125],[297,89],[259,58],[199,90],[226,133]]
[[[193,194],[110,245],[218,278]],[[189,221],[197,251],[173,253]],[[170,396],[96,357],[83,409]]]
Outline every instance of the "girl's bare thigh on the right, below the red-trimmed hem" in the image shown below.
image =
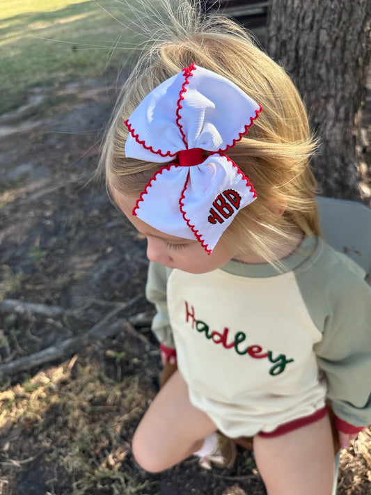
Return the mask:
[[329,417],[280,437],[254,438],[268,495],[331,495],[333,442]]

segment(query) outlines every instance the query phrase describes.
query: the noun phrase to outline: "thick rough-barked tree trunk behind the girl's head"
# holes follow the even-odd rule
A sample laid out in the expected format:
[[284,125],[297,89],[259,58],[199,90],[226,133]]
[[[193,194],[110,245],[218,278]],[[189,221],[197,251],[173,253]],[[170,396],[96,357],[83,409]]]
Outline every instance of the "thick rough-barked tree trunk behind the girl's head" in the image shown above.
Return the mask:
[[320,147],[319,193],[359,199],[356,143],[370,61],[369,0],[271,0],[267,52],[299,88]]

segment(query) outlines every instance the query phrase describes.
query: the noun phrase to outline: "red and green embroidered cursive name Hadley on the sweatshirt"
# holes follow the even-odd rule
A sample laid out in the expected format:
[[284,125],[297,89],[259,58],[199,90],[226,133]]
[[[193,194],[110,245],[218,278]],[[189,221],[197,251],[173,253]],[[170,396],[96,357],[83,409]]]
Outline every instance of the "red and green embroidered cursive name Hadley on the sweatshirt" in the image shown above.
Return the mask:
[[276,376],[280,375],[286,368],[288,363],[294,362],[294,359],[287,359],[285,354],[278,354],[274,356],[273,352],[267,350],[265,351],[260,345],[253,344],[246,347],[243,345],[246,340],[246,333],[243,331],[237,331],[233,340],[228,343],[228,327],[224,327],[223,333],[210,329],[210,327],[203,321],[197,320],[194,306],[190,306],[187,301],[185,302],[186,310],[186,322],[191,324],[192,329],[196,329],[199,333],[204,333],[208,340],[212,340],[215,344],[221,344],[226,349],[235,349],[235,352],[240,356],[248,355],[253,359],[263,359],[267,358],[274,366],[269,369],[269,375]]

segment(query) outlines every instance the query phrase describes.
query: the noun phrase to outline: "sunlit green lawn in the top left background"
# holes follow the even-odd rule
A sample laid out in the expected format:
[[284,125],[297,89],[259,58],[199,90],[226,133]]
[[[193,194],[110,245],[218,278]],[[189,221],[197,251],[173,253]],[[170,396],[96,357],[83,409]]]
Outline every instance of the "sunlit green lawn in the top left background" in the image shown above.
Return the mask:
[[19,107],[33,86],[120,70],[123,48],[138,42],[123,38],[129,18],[115,0],[1,0],[0,113]]

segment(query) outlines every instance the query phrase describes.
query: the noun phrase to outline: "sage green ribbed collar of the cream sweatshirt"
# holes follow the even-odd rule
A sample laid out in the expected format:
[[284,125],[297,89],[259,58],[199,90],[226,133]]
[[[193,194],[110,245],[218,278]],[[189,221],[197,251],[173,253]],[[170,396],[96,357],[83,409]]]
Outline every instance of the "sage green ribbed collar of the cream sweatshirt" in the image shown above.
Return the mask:
[[240,261],[230,260],[223,265],[220,269],[223,272],[228,272],[232,275],[246,276],[246,277],[270,277],[281,275],[286,272],[291,272],[295,268],[299,267],[301,263],[308,259],[308,256],[313,254],[317,246],[317,237],[304,237],[303,242],[298,246],[290,256],[281,260],[283,266],[280,269],[276,269],[269,265],[269,263],[256,263],[249,265],[248,263],[242,263]]

